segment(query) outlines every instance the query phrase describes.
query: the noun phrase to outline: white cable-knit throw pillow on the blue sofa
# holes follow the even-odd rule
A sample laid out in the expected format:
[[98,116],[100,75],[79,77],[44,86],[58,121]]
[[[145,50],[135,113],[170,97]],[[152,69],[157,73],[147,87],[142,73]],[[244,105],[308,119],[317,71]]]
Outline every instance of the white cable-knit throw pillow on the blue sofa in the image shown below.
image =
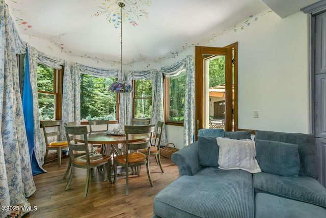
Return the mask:
[[216,138],[220,146],[219,168],[221,169],[243,169],[249,173],[259,173],[255,149],[255,141],[251,139]]

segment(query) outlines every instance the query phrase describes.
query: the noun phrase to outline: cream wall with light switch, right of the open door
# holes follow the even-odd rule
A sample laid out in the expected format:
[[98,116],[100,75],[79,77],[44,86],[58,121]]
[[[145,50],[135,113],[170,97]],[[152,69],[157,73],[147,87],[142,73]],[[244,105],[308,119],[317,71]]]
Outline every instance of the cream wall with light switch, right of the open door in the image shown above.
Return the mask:
[[[271,12],[205,44],[238,42],[238,128],[309,133],[308,29],[303,12],[283,19]],[[169,141],[183,133],[182,127],[166,128]]]

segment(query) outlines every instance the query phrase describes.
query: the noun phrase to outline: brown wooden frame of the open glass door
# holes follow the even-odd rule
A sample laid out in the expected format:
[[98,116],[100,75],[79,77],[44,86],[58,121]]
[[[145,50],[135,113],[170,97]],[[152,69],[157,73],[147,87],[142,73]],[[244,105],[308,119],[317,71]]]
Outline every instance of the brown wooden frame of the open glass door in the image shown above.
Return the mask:
[[[232,90],[232,49],[234,49],[234,106],[232,106],[232,91],[226,92],[226,123],[225,130],[232,131],[232,109],[234,107],[234,131],[237,130],[237,45],[235,42],[233,44],[227,45],[223,48],[221,47],[206,47],[206,46],[195,46],[195,98],[196,98],[196,131],[195,138],[197,139],[198,129],[205,128],[205,71],[203,54],[205,55],[225,55],[225,85],[226,89]],[[203,94],[204,93],[204,94]],[[207,124],[208,125],[208,124]]]

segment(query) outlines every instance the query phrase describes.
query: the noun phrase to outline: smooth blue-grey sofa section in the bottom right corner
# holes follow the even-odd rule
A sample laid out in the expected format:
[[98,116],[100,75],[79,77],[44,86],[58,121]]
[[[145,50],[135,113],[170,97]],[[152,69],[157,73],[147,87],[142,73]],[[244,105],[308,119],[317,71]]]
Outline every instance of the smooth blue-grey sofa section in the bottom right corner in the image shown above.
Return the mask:
[[266,193],[255,196],[255,218],[324,218],[326,210],[313,204],[281,198]]

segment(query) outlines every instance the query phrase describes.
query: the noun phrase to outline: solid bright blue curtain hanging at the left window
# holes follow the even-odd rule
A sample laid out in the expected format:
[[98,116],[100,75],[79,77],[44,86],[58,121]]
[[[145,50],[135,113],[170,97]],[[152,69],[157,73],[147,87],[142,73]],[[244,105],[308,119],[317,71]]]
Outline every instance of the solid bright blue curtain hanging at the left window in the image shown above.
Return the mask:
[[29,51],[26,49],[25,76],[22,96],[22,109],[25,120],[26,136],[29,144],[30,158],[33,176],[44,173],[39,166],[34,152],[34,115],[33,115],[33,92],[30,79]]

